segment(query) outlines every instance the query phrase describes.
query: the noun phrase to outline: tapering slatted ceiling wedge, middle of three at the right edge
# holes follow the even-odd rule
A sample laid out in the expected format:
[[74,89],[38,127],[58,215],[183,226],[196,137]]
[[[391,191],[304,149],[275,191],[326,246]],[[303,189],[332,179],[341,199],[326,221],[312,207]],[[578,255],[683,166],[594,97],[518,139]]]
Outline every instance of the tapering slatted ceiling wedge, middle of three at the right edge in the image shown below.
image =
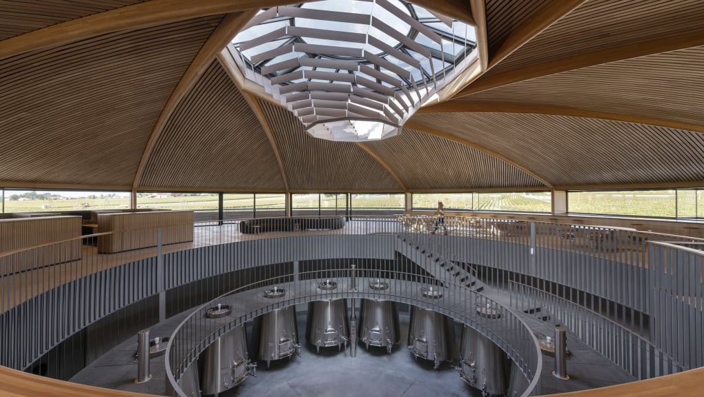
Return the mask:
[[704,47],[622,60],[462,98],[657,116],[704,125]]

